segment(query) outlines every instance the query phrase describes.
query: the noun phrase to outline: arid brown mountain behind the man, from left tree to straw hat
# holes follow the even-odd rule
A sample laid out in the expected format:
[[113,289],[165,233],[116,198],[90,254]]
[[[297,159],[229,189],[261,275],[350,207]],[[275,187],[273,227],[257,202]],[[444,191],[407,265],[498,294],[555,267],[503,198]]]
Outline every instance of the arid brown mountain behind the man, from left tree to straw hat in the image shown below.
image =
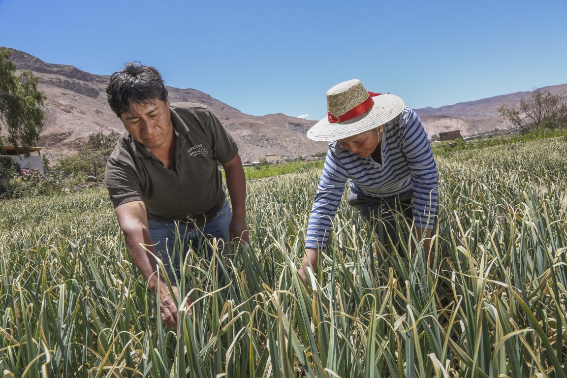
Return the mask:
[[[94,75],[72,66],[50,64],[27,53],[12,50],[18,69],[30,70],[40,79],[45,92],[45,126],[40,146],[51,156],[77,150],[92,133],[123,131],[111,112],[104,92],[109,76]],[[171,102],[207,105],[238,143],[243,160],[257,160],[266,154],[281,159],[327,150],[327,143],[313,142],[305,133],[315,121],[285,114],[250,116],[194,89],[168,87]]]

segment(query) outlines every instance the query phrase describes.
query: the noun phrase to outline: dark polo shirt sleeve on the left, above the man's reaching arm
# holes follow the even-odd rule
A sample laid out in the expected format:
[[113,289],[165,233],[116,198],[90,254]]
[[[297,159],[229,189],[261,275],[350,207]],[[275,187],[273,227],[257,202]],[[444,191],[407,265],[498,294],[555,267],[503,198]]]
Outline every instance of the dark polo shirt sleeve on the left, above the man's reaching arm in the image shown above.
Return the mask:
[[139,180],[133,169],[115,159],[109,158],[107,160],[104,183],[114,207],[123,203],[142,201]]

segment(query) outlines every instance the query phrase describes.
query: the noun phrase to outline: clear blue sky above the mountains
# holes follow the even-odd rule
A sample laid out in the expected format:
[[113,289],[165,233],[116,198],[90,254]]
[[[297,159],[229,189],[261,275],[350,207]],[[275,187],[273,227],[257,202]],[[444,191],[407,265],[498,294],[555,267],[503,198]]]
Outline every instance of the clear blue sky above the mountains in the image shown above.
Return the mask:
[[413,108],[567,83],[567,0],[0,0],[0,46],[111,74],[155,66],[248,114],[323,118],[358,78]]

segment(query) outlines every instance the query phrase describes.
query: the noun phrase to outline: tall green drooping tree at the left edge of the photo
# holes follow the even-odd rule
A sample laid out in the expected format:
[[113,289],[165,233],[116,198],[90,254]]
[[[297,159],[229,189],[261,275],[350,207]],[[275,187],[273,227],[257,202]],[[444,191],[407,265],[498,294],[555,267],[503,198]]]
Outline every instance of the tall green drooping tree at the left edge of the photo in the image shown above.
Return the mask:
[[[11,145],[16,148],[33,146],[39,141],[43,129],[41,106],[45,94],[37,90],[39,79],[31,71],[21,71],[19,77],[16,75],[11,55],[10,49],[0,48],[0,126],[6,127],[7,142]],[[0,145],[3,145],[1,140]]]

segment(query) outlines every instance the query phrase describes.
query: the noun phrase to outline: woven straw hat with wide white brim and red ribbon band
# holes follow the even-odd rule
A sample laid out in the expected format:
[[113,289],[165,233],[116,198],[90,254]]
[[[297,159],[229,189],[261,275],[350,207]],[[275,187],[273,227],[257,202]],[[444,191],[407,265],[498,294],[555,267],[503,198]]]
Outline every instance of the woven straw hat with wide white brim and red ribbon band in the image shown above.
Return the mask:
[[404,101],[395,95],[367,92],[360,80],[348,80],[327,91],[327,118],[307,131],[313,141],[337,141],[364,133],[395,118]]

